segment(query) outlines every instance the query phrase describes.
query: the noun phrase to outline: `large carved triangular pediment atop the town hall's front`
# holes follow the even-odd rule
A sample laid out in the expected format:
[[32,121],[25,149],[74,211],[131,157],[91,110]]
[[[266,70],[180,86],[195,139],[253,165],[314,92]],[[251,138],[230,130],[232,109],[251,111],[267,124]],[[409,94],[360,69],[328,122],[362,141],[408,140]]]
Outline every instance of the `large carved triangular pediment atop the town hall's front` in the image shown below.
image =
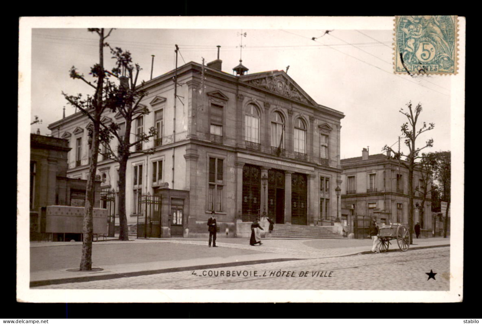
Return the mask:
[[284,71],[270,71],[248,74],[241,81],[255,87],[266,89],[272,93],[311,105],[316,102]]

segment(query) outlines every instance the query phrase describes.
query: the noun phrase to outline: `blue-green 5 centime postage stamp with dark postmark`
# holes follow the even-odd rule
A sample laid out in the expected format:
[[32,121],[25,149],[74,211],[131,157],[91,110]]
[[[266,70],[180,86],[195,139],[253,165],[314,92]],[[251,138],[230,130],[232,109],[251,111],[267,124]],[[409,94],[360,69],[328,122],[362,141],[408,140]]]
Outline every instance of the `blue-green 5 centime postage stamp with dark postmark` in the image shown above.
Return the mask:
[[457,16],[395,16],[399,74],[457,73]]

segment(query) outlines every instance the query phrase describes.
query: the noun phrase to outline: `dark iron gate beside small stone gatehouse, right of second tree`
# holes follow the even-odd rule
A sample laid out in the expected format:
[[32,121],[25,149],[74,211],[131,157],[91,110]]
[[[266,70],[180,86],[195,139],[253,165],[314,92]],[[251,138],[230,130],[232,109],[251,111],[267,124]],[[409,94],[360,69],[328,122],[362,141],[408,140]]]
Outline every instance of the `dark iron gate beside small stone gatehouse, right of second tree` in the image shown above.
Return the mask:
[[141,197],[142,214],[137,216],[137,237],[161,237],[161,196]]

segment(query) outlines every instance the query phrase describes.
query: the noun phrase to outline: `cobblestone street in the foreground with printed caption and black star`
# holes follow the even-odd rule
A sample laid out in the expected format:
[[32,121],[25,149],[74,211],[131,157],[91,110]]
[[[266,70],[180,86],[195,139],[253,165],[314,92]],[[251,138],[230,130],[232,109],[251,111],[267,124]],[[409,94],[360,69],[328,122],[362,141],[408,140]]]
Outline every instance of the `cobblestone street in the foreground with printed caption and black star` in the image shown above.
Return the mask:
[[[426,272],[436,272],[428,280]],[[234,273],[234,275],[233,275]],[[449,290],[450,247],[47,285],[35,289]]]

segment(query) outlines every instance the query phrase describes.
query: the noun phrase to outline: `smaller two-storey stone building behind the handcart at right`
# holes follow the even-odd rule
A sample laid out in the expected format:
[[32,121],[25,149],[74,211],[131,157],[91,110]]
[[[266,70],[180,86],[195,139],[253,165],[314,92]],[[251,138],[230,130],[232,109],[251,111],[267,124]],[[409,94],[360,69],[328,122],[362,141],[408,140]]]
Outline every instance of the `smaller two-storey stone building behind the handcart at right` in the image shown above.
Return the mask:
[[[405,161],[389,154],[369,155],[363,148],[362,156],[342,159],[341,166],[343,220],[355,237],[362,238],[371,219],[381,224],[408,224],[408,168]],[[430,183],[425,184],[426,179],[419,168],[415,168],[413,181],[414,189],[420,189],[415,193],[414,224],[420,222],[422,230],[431,233],[435,219],[431,212]],[[424,199],[420,191],[424,192],[425,187],[428,194]]]

